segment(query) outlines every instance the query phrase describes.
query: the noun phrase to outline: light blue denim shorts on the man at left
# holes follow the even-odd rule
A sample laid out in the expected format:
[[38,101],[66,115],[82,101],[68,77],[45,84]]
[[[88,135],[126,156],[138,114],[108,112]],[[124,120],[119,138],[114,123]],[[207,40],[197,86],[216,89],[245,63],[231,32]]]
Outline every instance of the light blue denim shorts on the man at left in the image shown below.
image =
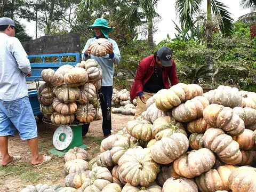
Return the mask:
[[13,101],[0,100],[0,136],[13,136],[16,129],[22,140],[37,137],[36,120],[28,97]]

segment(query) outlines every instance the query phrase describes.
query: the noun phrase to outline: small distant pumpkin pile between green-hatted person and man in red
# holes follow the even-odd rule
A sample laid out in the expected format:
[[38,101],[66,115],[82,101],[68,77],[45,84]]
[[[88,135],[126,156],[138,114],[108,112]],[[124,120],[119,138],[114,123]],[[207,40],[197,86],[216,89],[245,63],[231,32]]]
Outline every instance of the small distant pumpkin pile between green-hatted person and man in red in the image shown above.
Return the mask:
[[137,99],[131,103],[130,92],[126,89],[118,91],[113,89],[111,113],[123,115],[135,115]]

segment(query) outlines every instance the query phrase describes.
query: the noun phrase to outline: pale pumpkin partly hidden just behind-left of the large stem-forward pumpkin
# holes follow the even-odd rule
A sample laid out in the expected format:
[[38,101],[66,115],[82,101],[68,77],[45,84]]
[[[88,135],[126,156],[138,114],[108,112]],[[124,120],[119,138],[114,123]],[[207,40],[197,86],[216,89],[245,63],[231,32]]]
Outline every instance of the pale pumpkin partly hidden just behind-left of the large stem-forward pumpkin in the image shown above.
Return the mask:
[[121,158],[124,155],[125,151],[137,146],[140,146],[139,142],[130,142],[128,138],[117,140],[114,143],[113,148],[110,150],[111,159],[113,159],[113,162],[117,164],[119,158]]

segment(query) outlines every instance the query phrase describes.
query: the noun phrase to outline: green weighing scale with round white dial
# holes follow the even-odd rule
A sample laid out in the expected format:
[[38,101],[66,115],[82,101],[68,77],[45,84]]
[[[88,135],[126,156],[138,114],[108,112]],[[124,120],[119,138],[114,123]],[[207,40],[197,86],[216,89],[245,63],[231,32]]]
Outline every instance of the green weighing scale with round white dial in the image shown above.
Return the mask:
[[55,148],[49,152],[62,157],[71,148],[87,148],[88,146],[83,144],[82,125],[59,126],[53,134],[53,146]]

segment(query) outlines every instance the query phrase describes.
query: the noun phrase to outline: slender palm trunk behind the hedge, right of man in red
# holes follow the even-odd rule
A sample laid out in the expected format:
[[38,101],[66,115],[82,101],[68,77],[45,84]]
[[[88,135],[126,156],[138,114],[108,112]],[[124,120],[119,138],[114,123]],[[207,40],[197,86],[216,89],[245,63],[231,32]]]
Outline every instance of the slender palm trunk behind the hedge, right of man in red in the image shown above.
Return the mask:
[[[211,0],[207,0],[207,26],[206,26],[206,31],[207,31],[207,48],[211,49],[212,48],[212,8],[211,8]],[[212,70],[212,58],[211,57],[206,57],[206,65],[209,67],[210,70]],[[210,76],[212,76],[212,73],[209,73]]]

